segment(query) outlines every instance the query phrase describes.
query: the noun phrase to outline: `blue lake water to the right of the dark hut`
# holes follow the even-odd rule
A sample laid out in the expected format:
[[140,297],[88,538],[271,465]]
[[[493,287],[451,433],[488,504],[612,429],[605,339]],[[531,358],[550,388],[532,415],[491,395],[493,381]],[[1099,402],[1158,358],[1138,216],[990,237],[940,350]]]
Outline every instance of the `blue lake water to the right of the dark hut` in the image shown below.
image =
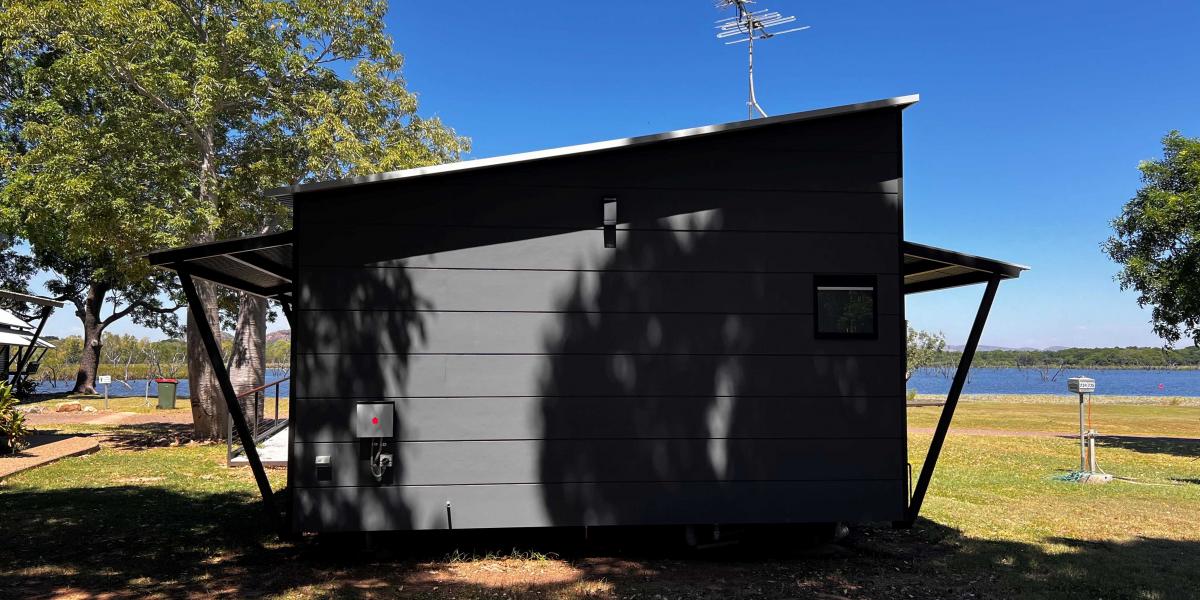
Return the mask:
[[[1056,378],[1051,370],[1043,377],[1028,368],[972,368],[962,394],[1062,394],[1068,395],[1067,378],[1096,379],[1096,392],[1105,396],[1200,396],[1200,371],[1158,371],[1140,368],[1067,368]],[[918,394],[946,394],[953,370],[918,370],[908,389]]]

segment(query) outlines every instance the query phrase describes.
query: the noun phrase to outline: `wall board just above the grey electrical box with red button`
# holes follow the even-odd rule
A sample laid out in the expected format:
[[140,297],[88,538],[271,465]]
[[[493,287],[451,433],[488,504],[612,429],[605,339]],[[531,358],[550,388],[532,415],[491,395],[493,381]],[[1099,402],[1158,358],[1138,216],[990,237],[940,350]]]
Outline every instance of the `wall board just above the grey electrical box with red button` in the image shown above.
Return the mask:
[[904,356],[300,354],[293,397],[892,396]]

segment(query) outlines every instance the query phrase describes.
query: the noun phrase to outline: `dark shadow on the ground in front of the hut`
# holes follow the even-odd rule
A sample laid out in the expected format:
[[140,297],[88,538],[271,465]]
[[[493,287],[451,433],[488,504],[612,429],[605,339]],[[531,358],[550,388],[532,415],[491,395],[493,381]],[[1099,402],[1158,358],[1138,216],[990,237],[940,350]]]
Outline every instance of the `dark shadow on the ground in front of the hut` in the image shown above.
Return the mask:
[[679,528],[571,528],[378,534],[368,551],[361,535],[280,541],[244,492],[18,487],[0,491],[0,514],[4,598],[1188,598],[1200,570],[1195,541],[1046,552],[926,520],[836,545],[798,527],[730,528],[742,544],[713,551],[684,548]]

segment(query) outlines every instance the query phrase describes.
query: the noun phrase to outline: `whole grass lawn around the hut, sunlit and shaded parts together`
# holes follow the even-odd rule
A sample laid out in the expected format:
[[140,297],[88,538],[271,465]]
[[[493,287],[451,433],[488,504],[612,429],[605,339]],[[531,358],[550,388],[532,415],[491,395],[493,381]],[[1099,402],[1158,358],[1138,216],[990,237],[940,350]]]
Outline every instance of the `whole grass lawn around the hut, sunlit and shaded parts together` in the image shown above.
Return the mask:
[[[1102,432],[1200,437],[1183,407],[1110,408]],[[911,420],[931,426],[936,410]],[[1060,413],[964,403],[956,425],[1072,431]],[[911,436],[914,466],[928,443]],[[1106,486],[1055,479],[1075,448],[952,432],[912,530],[859,527],[833,547],[784,532],[698,556],[636,538],[520,536],[515,551],[511,536],[380,536],[372,553],[359,538],[280,541],[223,446],[106,448],[0,482],[0,596],[1196,598],[1200,445],[1106,443],[1100,466],[1129,480]],[[271,472],[277,490],[283,476]]]

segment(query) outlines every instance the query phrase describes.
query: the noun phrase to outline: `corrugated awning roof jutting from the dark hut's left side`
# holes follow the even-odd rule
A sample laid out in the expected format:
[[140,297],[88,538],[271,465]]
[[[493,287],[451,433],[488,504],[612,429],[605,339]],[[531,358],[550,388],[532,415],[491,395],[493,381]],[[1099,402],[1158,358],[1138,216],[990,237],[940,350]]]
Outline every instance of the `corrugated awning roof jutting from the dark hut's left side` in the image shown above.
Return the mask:
[[187,271],[202,280],[290,302],[293,296],[292,232],[251,235],[154,252],[150,264]]

